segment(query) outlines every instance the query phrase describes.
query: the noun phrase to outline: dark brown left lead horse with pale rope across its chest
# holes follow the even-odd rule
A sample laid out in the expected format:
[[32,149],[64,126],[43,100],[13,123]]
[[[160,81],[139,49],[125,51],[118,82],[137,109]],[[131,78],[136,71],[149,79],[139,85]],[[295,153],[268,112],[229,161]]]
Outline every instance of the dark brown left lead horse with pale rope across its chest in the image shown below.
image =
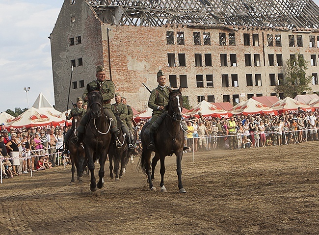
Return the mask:
[[[103,109],[103,99],[100,93],[100,84],[97,83],[96,89],[92,89],[87,84],[86,89],[88,91],[88,113],[90,115],[89,121],[85,127],[83,145],[85,149],[85,155],[88,158],[88,168],[91,173],[90,190],[95,192],[96,187],[101,189],[104,186],[104,166],[111,143],[110,122]],[[96,184],[94,176],[94,162],[99,159],[99,182]]]

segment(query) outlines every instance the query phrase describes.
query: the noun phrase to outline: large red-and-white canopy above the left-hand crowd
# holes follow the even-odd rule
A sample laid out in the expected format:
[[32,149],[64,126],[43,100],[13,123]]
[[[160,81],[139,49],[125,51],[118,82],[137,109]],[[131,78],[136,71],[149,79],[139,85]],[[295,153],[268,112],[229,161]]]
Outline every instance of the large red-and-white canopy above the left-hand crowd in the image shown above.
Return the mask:
[[8,128],[21,129],[23,127],[30,128],[34,126],[46,126],[50,128],[52,125],[64,126],[64,120],[48,113],[41,112],[39,109],[30,107],[27,111],[8,123]]

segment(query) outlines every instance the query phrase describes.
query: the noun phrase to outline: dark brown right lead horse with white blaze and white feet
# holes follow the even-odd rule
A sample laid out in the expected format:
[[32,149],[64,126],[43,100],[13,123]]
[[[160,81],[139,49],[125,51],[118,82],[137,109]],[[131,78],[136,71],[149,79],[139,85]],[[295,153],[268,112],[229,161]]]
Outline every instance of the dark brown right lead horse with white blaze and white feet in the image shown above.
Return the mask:
[[160,124],[158,128],[156,137],[154,139],[155,143],[155,156],[152,159],[151,166],[151,154],[152,151],[147,149],[149,144],[149,122],[144,125],[141,131],[141,141],[142,141],[142,155],[139,159],[139,168],[142,172],[147,175],[147,182],[149,183],[149,188],[152,191],[156,191],[156,187],[153,185],[154,171],[157,162],[160,160],[160,187],[161,192],[166,192],[164,186],[164,174],[165,174],[165,157],[176,155],[177,164],[177,176],[178,176],[178,188],[180,193],[186,193],[186,190],[182,184],[182,158],[183,158],[183,147],[184,147],[184,132],[181,128],[182,120],[182,110],[183,110],[183,97],[181,93],[181,88],[177,90],[169,89],[169,101],[168,105],[165,107],[167,110],[167,115]]

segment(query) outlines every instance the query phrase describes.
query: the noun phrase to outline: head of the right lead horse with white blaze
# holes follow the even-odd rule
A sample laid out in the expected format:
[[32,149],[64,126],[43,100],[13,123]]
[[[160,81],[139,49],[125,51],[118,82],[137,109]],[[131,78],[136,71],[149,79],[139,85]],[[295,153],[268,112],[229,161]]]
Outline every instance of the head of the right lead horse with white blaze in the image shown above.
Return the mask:
[[173,117],[175,121],[182,120],[182,110],[183,110],[183,96],[182,96],[182,88],[177,90],[169,90],[168,97],[168,114]]

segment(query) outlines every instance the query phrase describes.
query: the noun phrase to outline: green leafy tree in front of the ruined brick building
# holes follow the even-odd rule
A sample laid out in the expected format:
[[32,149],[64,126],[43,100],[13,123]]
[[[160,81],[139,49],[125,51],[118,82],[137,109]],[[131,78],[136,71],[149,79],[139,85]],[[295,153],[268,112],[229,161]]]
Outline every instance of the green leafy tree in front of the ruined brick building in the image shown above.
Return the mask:
[[287,60],[287,68],[285,78],[279,81],[277,86],[278,93],[284,93],[284,97],[294,98],[306,91],[311,91],[309,83],[311,82],[311,76],[306,75],[309,61],[304,60],[303,56],[299,53],[291,56]]

